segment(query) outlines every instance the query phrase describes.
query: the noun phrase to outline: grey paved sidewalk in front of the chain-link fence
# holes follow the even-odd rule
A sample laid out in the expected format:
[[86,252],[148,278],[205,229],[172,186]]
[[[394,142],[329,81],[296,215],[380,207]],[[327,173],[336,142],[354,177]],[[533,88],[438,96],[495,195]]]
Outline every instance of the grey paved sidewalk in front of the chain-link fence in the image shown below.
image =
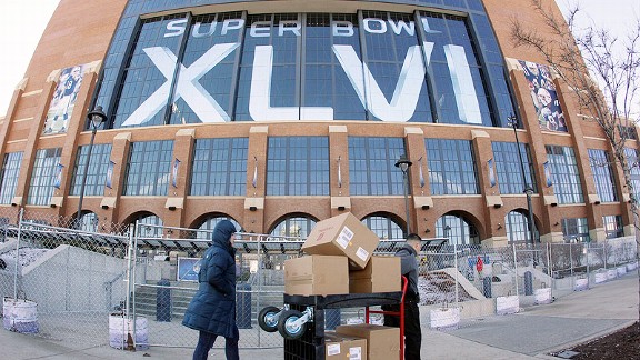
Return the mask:
[[[450,331],[433,331],[423,321],[422,359],[559,359],[549,352],[600,337],[638,319],[638,276],[598,284],[550,304],[531,306],[510,316],[468,320]],[[426,312],[426,311],[423,311]],[[424,314],[423,314],[424,316]],[[119,351],[108,346],[70,349],[54,341],[0,329],[1,359],[190,359],[192,349],[153,347]],[[210,359],[224,359],[214,349]],[[241,359],[282,359],[282,348],[240,350]]]

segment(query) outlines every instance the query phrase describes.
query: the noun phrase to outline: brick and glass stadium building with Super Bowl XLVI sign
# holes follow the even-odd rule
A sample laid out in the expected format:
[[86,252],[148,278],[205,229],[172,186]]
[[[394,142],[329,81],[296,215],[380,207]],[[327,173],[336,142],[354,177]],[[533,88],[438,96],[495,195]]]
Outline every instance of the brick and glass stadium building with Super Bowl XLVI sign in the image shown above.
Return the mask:
[[349,211],[384,239],[631,233],[610,144],[513,17],[543,27],[528,0],[61,0],[0,122],[0,207],[98,232],[304,237]]

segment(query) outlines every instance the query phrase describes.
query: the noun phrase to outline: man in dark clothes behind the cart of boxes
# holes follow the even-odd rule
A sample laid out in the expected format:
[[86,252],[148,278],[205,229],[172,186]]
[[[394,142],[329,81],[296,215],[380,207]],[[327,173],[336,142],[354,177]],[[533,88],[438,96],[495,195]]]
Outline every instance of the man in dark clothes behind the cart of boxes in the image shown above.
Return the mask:
[[[422,329],[420,328],[420,293],[418,292],[418,252],[421,248],[420,236],[410,233],[402,248],[396,251],[400,257],[400,272],[407,277],[407,294],[404,296],[404,359],[420,360],[422,346]],[[400,311],[400,306],[383,306],[386,311]],[[384,326],[400,327],[400,318],[384,314]]]

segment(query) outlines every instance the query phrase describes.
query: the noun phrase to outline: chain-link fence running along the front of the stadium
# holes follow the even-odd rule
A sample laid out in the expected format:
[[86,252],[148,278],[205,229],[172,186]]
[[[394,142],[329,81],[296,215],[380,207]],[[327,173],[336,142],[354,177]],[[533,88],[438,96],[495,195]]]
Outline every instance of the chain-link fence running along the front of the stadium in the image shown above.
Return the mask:
[[[199,233],[203,232],[203,233]],[[3,328],[66,342],[193,348],[197,331],[181,326],[198,283],[210,231],[146,223],[130,226],[0,209],[0,294]],[[597,243],[447,244],[431,239],[419,254],[420,304],[429,326],[447,329],[520,307],[546,303],[637,269],[633,238]],[[440,240],[440,241],[438,241]],[[260,310],[283,307],[287,259],[303,239],[239,233],[237,323],[241,348],[279,348],[278,332],[258,324]],[[382,240],[392,254],[401,240]],[[326,311],[326,329],[363,321],[363,308]],[[372,322],[381,322],[373,316]],[[216,347],[223,347],[223,342]]]

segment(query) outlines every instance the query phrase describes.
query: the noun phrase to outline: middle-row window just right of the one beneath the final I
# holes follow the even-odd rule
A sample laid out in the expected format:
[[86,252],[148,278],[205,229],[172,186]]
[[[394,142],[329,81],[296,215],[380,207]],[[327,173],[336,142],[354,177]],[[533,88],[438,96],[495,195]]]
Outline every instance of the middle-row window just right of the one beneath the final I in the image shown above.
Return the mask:
[[[520,157],[516,150],[514,142],[492,142],[493,158],[496,159],[496,173],[498,178],[498,186],[500,193],[523,193],[526,184],[522,182],[522,167],[520,164]],[[527,161],[524,164],[524,177],[527,184],[538,192],[538,187],[533,181],[533,161],[529,144],[520,144],[520,153],[522,160]]]

